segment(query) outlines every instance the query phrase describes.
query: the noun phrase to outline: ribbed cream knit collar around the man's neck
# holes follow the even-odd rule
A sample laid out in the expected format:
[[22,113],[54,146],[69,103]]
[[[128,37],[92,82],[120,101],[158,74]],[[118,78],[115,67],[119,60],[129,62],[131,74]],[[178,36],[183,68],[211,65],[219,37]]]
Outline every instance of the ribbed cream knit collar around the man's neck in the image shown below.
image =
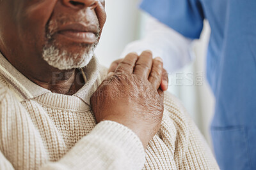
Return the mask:
[[[1,52],[0,73],[4,76],[6,83],[8,83],[10,89],[15,92],[17,98],[20,101],[24,101],[26,99],[36,99],[40,100],[40,102],[44,104],[53,104],[56,107],[62,107],[65,105],[65,103],[61,104],[62,99],[64,99],[64,101],[74,101],[74,103],[77,103],[78,97],[84,103],[90,105],[90,96],[92,96],[98,85],[96,81],[97,77],[99,76],[99,62],[96,57],[93,57],[88,66],[84,67],[84,73],[86,73],[87,82],[73,96],[52,93],[50,90],[36,85],[33,83],[33,81],[26,78],[26,76],[24,76],[14,66],[12,66],[12,64],[5,59]],[[58,99],[58,101],[56,101],[56,99]],[[67,108],[73,109],[72,106],[67,106]]]

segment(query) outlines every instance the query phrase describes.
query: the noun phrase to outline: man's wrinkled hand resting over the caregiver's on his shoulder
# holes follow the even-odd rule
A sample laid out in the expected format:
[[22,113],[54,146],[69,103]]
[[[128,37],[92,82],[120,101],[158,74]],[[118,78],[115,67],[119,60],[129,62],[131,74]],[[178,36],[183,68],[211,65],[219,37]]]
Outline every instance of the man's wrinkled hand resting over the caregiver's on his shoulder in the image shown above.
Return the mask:
[[159,57],[153,60],[151,52],[140,57],[129,53],[91,97],[97,122],[111,120],[129,127],[146,148],[163,118],[162,74]]

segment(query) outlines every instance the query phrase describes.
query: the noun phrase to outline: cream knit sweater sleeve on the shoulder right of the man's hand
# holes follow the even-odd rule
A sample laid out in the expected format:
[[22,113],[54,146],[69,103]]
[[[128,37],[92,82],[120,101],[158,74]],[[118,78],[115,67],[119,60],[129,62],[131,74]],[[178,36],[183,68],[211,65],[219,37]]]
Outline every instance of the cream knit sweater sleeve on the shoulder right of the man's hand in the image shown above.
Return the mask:
[[[176,167],[178,169],[219,169],[211,149],[179,99],[169,93],[164,97],[164,110],[167,114],[164,115],[163,121],[173,124],[176,133],[173,133],[172,141],[165,139],[166,137],[163,138],[166,145],[171,143],[170,145],[175,146],[173,157]],[[172,126],[170,124],[168,126]],[[162,130],[162,133],[166,132]],[[173,148],[172,146],[170,148]]]

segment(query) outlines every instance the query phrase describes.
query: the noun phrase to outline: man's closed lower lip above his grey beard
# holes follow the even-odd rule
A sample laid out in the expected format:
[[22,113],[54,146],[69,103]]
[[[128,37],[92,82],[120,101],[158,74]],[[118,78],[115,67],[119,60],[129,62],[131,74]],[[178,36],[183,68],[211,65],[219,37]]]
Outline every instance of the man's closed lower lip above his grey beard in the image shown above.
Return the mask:
[[96,36],[93,32],[61,31],[59,34],[63,38],[76,43],[93,44],[96,41]]

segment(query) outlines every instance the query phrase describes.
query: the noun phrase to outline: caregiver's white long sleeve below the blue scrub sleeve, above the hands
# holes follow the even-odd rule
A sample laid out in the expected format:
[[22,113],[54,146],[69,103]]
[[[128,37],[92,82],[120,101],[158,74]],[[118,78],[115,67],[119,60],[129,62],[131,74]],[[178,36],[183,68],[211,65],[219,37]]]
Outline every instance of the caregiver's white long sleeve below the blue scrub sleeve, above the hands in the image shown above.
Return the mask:
[[193,59],[192,41],[193,39],[184,37],[155,18],[150,18],[147,22],[145,38],[125,46],[121,57],[124,58],[130,52],[140,54],[144,50],[151,50],[153,57],[161,57],[164,68],[168,73],[172,73],[186,66]]

